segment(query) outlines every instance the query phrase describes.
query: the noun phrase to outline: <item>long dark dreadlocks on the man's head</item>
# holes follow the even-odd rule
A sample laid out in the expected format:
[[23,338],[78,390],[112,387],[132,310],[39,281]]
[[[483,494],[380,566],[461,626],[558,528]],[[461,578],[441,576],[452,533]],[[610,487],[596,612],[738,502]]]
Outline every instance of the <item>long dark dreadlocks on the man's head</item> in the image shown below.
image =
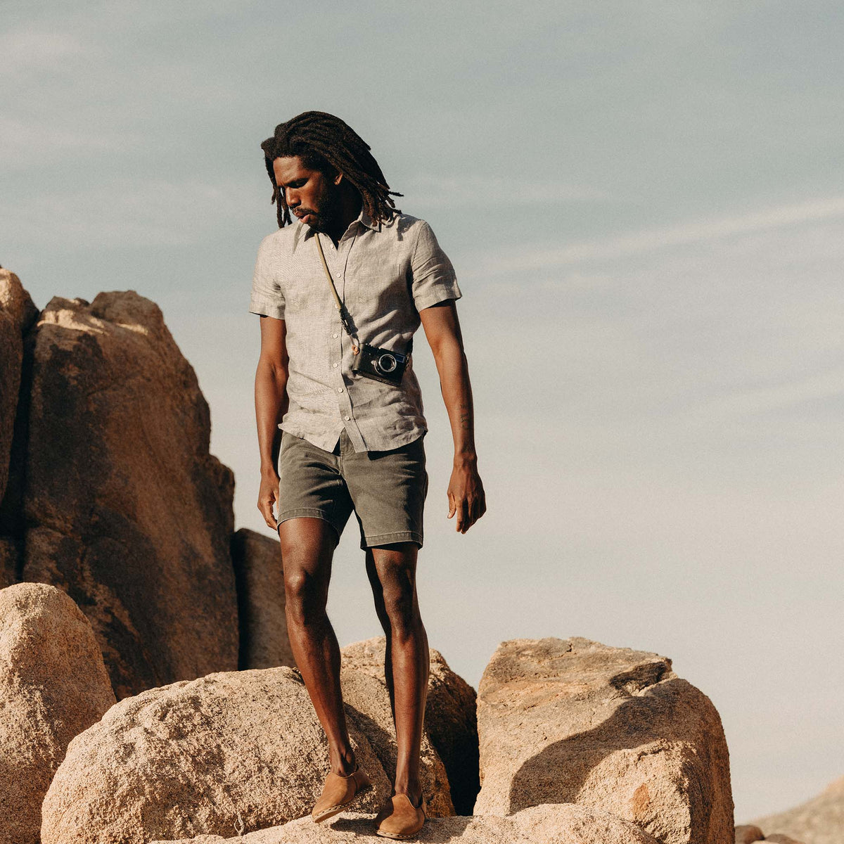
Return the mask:
[[366,213],[373,222],[392,219],[393,214],[401,213],[391,197],[403,194],[390,190],[369,144],[339,117],[325,111],[303,111],[286,123],[279,123],[273,137],[267,138],[261,149],[269,180],[273,183],[271,201],[276,203],[279,229],[292,220],[284,191],[275,181],[273,161],[289,156],[299,156],[310,170],[342,173],[360,192]]

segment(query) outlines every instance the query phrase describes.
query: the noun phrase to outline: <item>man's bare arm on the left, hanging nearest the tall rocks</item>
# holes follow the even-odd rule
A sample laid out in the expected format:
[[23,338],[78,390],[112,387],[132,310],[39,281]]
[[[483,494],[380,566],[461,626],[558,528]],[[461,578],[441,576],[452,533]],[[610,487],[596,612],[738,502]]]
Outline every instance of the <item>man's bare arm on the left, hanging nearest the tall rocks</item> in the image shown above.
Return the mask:
[[278,524],[273,504],[279,500],[279,422],[287,410],[288,354],[284,342],[287,329],[283,319],[261,317],[261,356],[255,371],[255,419],[258,450],[261,453],[261,489],[258,510],[273,530]]

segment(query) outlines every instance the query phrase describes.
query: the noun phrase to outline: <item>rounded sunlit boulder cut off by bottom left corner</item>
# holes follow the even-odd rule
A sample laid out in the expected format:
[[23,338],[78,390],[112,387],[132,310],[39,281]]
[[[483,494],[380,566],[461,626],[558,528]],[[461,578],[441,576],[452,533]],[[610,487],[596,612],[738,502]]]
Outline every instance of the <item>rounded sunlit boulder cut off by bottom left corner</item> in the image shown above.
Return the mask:
[[3,844],[36,844],[41,801],[77,733],[115,702],[88,619],[60,589],[0,590]]

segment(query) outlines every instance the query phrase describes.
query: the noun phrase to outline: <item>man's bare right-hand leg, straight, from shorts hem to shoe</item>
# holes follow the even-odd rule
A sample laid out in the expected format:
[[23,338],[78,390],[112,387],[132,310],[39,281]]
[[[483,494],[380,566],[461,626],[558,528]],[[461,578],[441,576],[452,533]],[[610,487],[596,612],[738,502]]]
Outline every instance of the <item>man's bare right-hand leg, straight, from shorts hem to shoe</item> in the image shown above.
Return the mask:
[[378,619],[387,635],[384,676],[390,691],[398,744],[395,791],[407,794],[414,806],[418,806],[422,798],[419,748],[430,672],[428,636],[416,594],[418,551],[412,542],[366,551],[366,573]]

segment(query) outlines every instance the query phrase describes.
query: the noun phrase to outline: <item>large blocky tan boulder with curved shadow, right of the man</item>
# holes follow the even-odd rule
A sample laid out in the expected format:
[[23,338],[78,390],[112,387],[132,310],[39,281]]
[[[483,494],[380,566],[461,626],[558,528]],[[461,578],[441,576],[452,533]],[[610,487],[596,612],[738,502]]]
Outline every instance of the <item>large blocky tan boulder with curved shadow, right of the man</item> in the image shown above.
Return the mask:
[[721,719],[665,657],[581,638],[503,642],[478,722],[475,814],[577,803],[663,844],[733,844]]

